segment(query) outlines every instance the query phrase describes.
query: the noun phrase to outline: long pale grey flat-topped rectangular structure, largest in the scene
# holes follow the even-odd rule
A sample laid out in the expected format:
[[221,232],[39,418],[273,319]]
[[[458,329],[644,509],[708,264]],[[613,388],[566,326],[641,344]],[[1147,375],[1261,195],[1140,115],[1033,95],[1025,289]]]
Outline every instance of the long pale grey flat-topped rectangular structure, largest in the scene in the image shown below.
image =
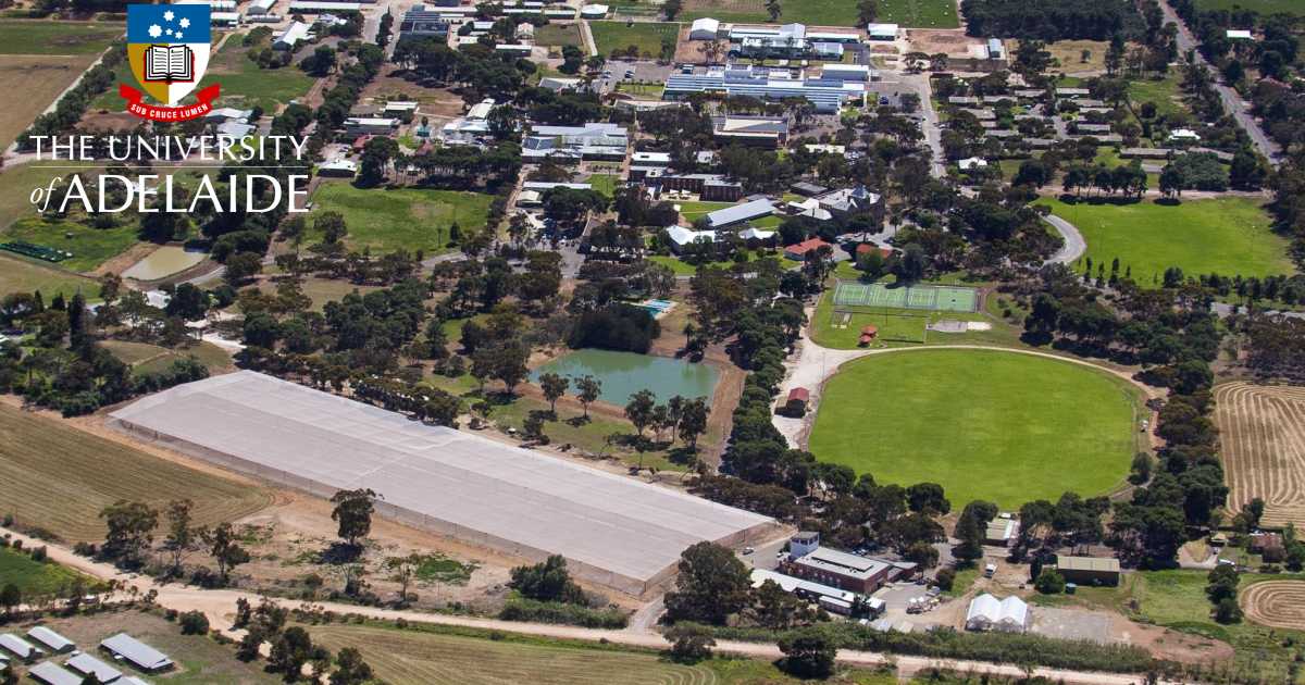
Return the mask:
[[320,497],[371,488],[386,518],[526,558],[560,553],[581,578],[633,595],[673,578],[686,547],[741,544],[771,523],[249,371],[164,390],[112,418]]

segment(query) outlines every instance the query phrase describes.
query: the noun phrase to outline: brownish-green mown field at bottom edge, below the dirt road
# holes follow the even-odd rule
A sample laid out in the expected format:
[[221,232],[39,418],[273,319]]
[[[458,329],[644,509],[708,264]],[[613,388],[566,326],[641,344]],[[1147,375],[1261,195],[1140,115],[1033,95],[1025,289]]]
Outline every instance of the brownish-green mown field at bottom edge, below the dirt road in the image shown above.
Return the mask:
[[335,651],[358,647],[376,676],[394,685],[713,685],[706,665],[681,665],[654,654],[491,641],[364,626],[313,626],[313,642]]

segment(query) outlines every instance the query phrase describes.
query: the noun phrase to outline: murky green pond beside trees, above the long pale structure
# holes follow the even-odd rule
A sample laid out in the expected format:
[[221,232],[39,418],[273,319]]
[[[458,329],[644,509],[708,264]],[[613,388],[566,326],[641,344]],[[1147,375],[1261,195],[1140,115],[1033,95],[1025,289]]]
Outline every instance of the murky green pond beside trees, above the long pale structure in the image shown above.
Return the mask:
[[[651,390],[658,402],[681,395],[686,398],[706,397],[716,389],[718,373],[709,364],[690,364],[664,356],[637,355],[634,352],[612,352],[609,350],[577,350],[562,355],[530,373],[531,381],[539,374],[553,372],[568,378],[592,376],[603,382],[599,399],[624,407],[630,395],[639,390]],[[576,393],[576,381],[566,389],[568,395]]]

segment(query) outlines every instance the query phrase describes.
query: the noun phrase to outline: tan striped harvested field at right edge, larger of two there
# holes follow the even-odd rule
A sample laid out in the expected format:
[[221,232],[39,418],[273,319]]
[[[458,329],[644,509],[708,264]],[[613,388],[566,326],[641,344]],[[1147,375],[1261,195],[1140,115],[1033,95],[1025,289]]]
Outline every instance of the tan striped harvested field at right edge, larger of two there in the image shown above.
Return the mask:
[[1228,508],[1259,497],[1268,527],[1305,527],[1305,388],[1231,382],[1215,389]]

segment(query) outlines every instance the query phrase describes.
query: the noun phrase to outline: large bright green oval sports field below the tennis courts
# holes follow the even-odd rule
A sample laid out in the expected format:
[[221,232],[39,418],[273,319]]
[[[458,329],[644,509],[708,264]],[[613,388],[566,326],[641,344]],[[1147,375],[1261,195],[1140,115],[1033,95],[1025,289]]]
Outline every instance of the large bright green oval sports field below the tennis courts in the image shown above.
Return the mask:
[[1137,406],[1124,381],[1067,361],[984,350],[872,356],[827,381],[810,451],[880,483],[938,483],[958,508],[983,498],[1014,509],[1118,485]]

